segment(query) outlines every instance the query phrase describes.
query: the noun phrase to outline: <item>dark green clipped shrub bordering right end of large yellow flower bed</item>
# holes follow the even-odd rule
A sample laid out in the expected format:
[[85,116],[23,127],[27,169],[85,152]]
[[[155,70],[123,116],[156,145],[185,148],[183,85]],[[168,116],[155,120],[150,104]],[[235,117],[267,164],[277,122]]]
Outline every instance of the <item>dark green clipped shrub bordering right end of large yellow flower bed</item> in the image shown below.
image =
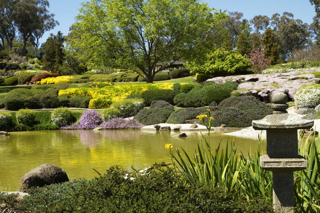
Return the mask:
[[142,92],[141,98],[145,101],[146,106],[150,106],[151,102],[156,100],[164,100],[173,104],[173,98],[178,93],[178,91],[172,89],[151,89]]

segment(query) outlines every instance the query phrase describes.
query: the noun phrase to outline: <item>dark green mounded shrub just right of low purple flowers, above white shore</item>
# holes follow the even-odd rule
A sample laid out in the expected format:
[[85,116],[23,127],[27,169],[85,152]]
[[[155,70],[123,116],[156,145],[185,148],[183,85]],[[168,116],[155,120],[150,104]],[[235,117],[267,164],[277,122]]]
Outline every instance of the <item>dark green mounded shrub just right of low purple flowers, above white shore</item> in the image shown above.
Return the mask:
[[140,121],[143,125],[153,125],[165,123],[172,113],[169,107],[164,108],[144,108],[138,112],[133,118]]

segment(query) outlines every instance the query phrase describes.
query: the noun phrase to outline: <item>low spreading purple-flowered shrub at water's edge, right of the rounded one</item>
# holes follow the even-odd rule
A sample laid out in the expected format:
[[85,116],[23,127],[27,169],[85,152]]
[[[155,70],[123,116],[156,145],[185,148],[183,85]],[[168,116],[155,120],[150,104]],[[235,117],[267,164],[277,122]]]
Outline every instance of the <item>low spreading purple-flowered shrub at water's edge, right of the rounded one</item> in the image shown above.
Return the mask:
[[138,120],[126,120],[124,118],[112,118],[100,125],[105,129],[140,129],[142,126]]

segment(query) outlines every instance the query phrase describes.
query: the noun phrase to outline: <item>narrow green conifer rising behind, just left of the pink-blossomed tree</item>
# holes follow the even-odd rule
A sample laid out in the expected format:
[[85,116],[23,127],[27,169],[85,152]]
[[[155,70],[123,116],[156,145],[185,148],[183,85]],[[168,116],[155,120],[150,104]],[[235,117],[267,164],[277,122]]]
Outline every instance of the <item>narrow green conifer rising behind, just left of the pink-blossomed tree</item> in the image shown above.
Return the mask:
[[236,41],[237,52],[242,56],[250,53],[251,42],[250,42],[250,26],[248,23],[242,25],[242,31]]

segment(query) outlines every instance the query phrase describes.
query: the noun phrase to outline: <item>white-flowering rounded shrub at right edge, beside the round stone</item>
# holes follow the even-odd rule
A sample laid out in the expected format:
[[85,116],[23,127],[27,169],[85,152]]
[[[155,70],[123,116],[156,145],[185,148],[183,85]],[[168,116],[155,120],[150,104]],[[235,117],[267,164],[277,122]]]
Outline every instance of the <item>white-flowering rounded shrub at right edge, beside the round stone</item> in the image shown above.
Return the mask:
[[294,103],[298,108],[315,108],[320,104],[320,85],[306,85],[294,94]]

